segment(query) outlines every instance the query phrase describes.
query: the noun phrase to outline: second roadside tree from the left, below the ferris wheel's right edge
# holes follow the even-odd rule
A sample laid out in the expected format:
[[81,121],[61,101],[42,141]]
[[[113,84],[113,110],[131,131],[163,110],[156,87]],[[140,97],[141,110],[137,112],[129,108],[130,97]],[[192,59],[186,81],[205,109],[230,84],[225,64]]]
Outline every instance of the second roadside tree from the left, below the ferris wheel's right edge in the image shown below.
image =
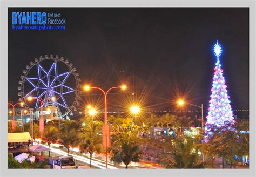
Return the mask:
[[59,132],[59,138],[67,149],[68,155],[70,147],[74,147],[78,144],[77,129],[74,125],[75,124],[73,122],[66,121]]

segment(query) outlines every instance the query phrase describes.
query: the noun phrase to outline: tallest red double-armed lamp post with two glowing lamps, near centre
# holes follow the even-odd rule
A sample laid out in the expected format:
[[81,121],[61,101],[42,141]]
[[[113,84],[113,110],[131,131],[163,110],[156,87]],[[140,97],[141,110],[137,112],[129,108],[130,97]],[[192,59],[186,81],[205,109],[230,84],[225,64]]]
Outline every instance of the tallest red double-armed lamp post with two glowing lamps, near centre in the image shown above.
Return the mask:
[[109,91],[115,89],[115,88],[122,88],[122,90],[126,89],[126,85],[122,85],[122,86],[118,86],[118,87],[111,87],[109,88],[109,90],[107,90],[106,92],[99,87],[90,87],[90,86],[85,86],[84,90],[85,91],[89,91],[90,89],[95,89],[95,90],[99,90],[104,94],[104,112],[105,112],[105,119],[104,119],[104,128],[105,128],[105,151],[106,151],[106,169],[107,169],[107,94],[109,93]]

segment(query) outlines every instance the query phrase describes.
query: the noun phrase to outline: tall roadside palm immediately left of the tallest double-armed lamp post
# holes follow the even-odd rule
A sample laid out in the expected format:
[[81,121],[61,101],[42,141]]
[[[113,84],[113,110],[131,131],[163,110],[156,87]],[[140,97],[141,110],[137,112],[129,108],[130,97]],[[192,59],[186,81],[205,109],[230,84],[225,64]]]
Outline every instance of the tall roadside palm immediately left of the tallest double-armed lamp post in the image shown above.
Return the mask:
[[86,126],[83,127],[83,133],[79,134],[80,152],[88,152],[90,154],[90,167],[93,153],[101,153],[103,151],[102,136],[99,133],[102,131],[102,122],[100,121],[86,121]]

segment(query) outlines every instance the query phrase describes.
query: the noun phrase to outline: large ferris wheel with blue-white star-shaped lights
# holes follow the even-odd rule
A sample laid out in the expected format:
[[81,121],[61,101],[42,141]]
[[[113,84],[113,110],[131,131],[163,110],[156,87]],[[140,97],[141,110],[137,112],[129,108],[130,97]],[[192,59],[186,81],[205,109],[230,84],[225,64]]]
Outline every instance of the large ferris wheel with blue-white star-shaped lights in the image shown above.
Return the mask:
[[[23,70],[21,79],[18,83],[19,101],[23,101],[28,107],[26,98],[37,98],[35,108],[41,108],[38,99],[43,101],[43,107],[49,105],[57,107],[58,119],[68,119],[77,111],[79,106],[80,82],[79,73],[69,60],[58,56],[40,57],[35,62],[30,62]],[[52,101],[52,97],[55,100]]]

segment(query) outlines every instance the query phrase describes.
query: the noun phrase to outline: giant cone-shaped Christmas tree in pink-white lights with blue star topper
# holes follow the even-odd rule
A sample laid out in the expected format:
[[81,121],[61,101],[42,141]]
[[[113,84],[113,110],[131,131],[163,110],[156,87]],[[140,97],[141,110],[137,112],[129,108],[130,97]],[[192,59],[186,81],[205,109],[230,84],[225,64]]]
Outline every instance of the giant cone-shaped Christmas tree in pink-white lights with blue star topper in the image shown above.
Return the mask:
[[207,122],[205,124],[205,141],[207,142],[209,138],[213,135],[214,127],[227,126],[228,129],[235,123],[233,120],[233,112],[230,105],[230,96],[227,94],[227,86],[225,85],[225,78],[223,77],[223,69],[221,69],[221,64],[219,57],[222,53],[221,46],[214,44],[213,47],[214,55],[217,56],[217,63],[214,68],[214,77],[212,84],[212,94],[211,100],[209,101]]

